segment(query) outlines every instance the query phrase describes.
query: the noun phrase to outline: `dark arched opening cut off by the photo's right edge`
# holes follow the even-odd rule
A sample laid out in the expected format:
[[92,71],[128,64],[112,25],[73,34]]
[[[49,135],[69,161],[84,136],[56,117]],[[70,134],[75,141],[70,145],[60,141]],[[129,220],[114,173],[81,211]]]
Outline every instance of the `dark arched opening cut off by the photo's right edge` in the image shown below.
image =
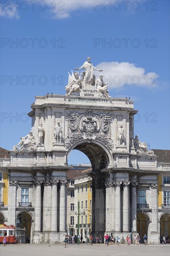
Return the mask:
[[160,238],[170,236],[170,214],[163,213],[160,218]]

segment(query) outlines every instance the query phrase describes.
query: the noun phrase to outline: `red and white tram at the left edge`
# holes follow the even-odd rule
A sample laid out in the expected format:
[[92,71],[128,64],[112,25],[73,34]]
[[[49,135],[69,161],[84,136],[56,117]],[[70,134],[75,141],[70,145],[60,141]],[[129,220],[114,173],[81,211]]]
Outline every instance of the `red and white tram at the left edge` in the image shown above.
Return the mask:
[[7,243],[17,243],[16,229],[13,225],[0,224],[0,243],[3,243],[4,236],[7,238]]

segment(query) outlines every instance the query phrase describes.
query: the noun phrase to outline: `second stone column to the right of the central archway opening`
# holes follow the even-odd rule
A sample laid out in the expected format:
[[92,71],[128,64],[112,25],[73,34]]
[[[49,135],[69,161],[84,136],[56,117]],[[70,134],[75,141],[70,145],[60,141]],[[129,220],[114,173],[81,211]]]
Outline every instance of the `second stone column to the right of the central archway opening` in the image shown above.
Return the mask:
[[121,231],[121,193],[120,193],[120,185],[122,182],[115,182],[115,232]]

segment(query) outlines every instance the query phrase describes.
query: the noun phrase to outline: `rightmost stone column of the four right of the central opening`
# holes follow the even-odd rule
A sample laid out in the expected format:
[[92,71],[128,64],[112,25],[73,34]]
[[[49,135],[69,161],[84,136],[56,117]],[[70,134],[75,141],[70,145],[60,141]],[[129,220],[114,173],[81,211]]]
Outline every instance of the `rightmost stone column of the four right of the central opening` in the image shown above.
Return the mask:
[[133,233],[137,233],[137,184],[137,182],[131,182],[131,227]]

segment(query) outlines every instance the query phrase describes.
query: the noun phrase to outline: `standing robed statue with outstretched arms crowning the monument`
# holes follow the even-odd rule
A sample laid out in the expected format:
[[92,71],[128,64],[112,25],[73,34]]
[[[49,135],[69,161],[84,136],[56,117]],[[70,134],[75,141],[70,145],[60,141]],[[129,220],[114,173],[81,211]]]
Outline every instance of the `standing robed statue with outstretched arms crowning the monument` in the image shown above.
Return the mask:
[[87,85],[94,85],[95,84],[95,76],[94,76],[94,70],[97,70],[99,72],[103,71],[102,69],[97,69],[93,66],[92,62],[90,62],[91,57],[87,58],[87,61],[83,64],[81,67],[76,67],[76,70],[85,68],[85,76],[83,78],[83,83]]

